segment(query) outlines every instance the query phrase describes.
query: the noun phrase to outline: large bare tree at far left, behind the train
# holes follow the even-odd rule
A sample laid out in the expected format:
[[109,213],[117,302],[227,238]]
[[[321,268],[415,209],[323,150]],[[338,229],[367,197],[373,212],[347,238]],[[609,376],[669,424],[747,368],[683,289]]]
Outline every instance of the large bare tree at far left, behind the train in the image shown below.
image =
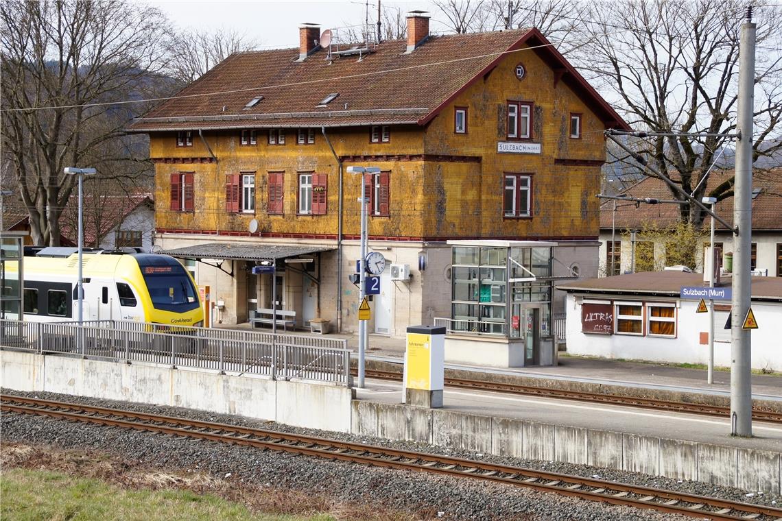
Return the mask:
[[0,3],[3,159],[30,214],[35,244],[59,244],[59,216],[76,180],[66,166],[95,166],[112,176],[148,170],[143,140],[123,129],[142,104],[170,91],[156,73],[166,65],[168,25],[142,3]]

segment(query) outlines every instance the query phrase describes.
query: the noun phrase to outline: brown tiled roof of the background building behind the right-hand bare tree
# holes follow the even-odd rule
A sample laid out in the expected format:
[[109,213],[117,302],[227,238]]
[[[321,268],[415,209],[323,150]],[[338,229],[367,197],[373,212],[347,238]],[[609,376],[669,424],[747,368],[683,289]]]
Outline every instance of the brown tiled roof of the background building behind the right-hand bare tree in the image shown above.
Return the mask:
[[[706,193],[733,177],[733,170],[712,170],[706,181]],[[674,180],[678,177],[673,177]],[[752,175],[752,188],[760,193],[752,199],[752,229],[782,230],[782,168],[771,170],[755,170]],[[622,192],[634,198],[673,199],[673,194],[664,181],[647,177]],[[613,201],[606,200],[600,207],[600,227],[612,228]],[[647,205],[640,203],[638,208],[627,202],[617,201],[622,205],[616,209],[617,230],[626,228],[669,227],[679,222],[679,205],[661,203]],[[625,206],[626,205],[626,206]],[[730,197],[717,202],[716,211],[727,223],[733,223],[734,198]],[[708,223],[708,216],[706,217]],[[715,223],[717,230],[725,230],[722,224]]]

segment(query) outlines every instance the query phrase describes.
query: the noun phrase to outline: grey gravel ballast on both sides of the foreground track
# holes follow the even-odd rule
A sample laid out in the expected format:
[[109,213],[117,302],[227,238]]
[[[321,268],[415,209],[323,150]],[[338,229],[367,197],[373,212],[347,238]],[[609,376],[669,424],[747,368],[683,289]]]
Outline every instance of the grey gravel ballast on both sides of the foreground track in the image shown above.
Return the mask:
[[[251,426],[266,430],[308,434],[353,443],[425,451],[508,466],[592,476],[601,480],[615,480],[622,483],[684,491],[690,494],[733,501],[777,507],[782,505],[782,501],[780,501],[782,498],[777,494],[741,491],[730,487],[670,480],[659,476],[626,473],[612,469],[597,469],[561,462],[501,458],[426,444],[301,429],[273,422],[192,409],[82,398],[64,394],[23,393],[9,390],[2,392],[208,422]],[[3,414],[2,440],[4,443],[24,442],[37,446],[51,445],[65,449],[106,451],[133,462],[143,462],[151,467],[201,471],[221,479],[230,475],[224,479],[265,487],[325,494],[339,501],[389,505],[393,509],[409,512],[431,511],[434,512],[433,517],[440,519],[590,519],[595,521],[601,519],[676,519],[676,516],[651,510],[604,505],[518,487],[487,484],[450,476],[432,476],[346,462],[297,457],[256,448],[190,441],[160,434],[89,426],[37,416]]]

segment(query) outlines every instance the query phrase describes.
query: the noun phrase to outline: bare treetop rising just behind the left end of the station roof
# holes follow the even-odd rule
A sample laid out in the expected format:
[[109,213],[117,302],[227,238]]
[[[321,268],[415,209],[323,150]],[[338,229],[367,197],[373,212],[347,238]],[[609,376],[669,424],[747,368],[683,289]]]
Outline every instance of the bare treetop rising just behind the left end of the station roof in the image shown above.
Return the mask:
[[206,71],[235,52],[249,51],[259,44],[232,29],[185,30],[171,42],[169,75],[182,84],[202,77]]

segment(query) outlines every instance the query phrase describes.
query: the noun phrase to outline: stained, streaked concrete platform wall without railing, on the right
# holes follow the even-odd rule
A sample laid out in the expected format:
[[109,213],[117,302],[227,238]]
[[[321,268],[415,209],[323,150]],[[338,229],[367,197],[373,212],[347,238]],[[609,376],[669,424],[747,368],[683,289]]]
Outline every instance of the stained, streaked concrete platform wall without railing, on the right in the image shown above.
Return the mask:
[[780,493],[779,452],[354,400],[352,434]]

